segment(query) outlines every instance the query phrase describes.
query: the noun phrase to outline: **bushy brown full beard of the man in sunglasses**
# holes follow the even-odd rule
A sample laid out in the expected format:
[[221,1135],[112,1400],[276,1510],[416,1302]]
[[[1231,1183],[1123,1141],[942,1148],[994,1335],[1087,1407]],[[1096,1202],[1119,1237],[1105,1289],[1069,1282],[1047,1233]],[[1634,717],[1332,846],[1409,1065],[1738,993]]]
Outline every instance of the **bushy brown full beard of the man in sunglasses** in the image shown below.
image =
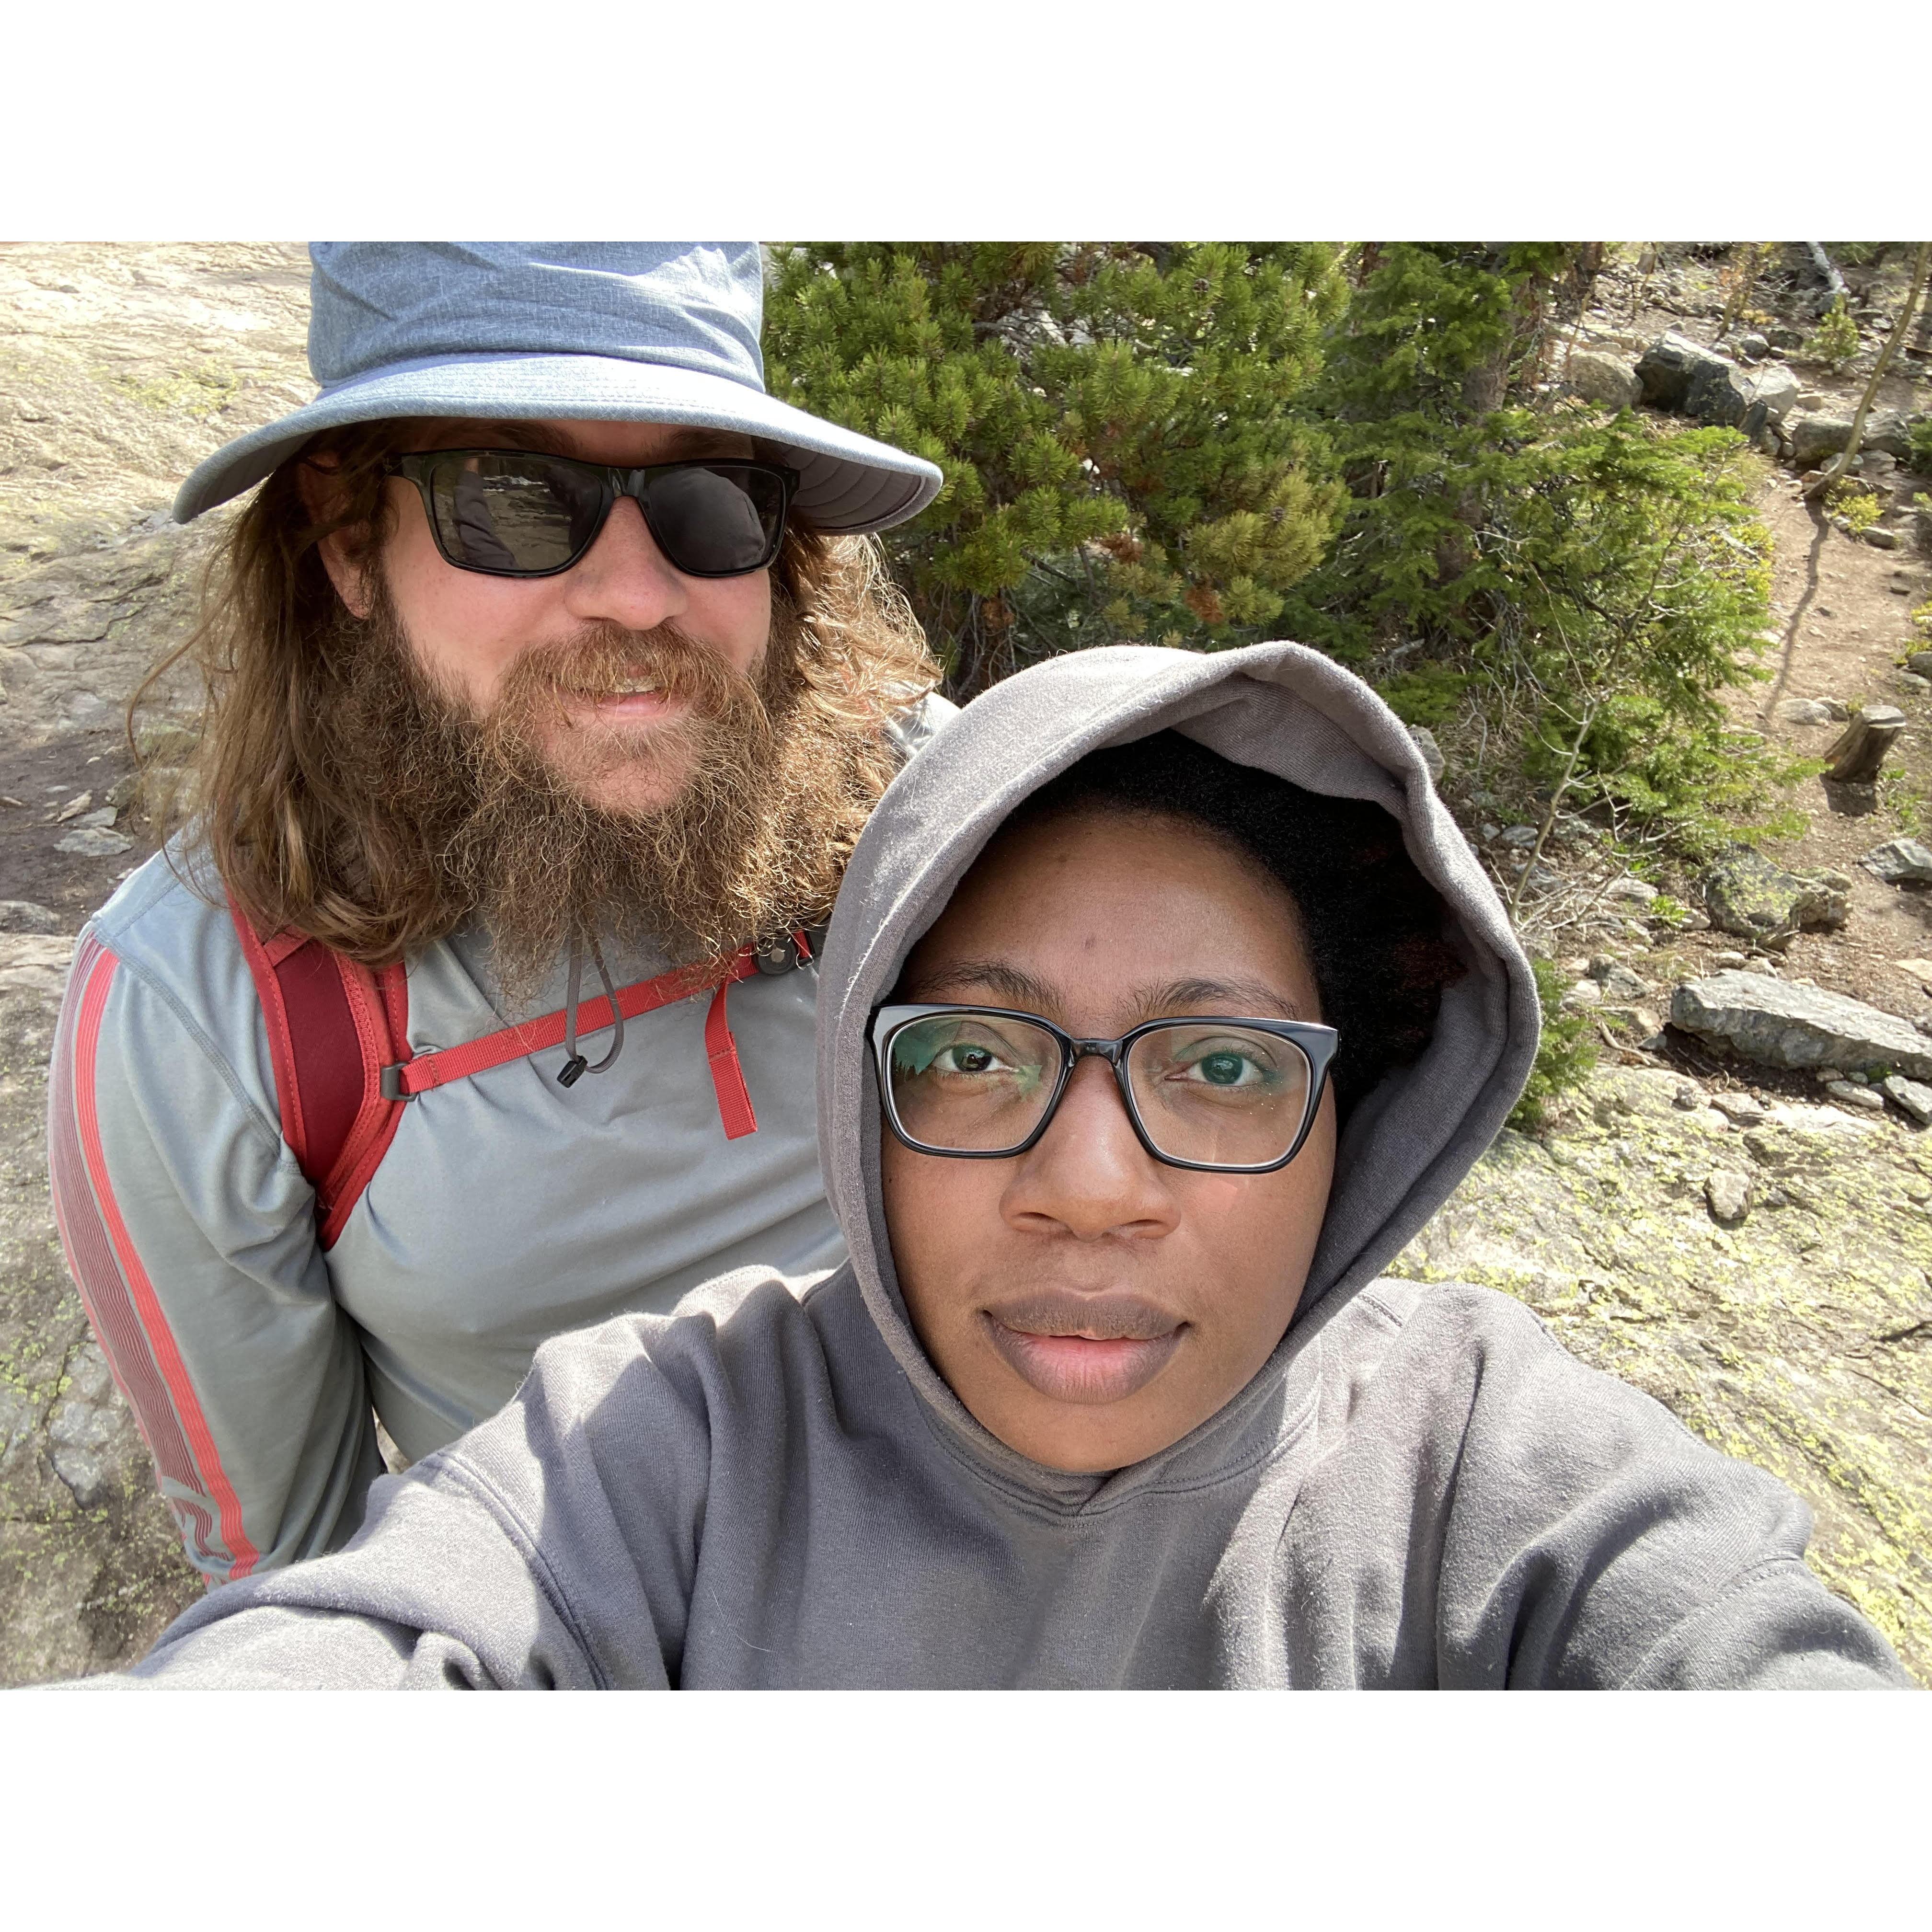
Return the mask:
[[[883,717],[817,701],[777,585],[752,676],[672,626],[607,624],[527,649],[481,715],[425,674],[386,589],[342,643],[338,771],[419,840],[450,923],[481,918],[512,1005],[580,935],[692,964],[821,923],[895,765]],[[566,709],[634,680],[682,715],[639,734]],[[668,804],[585,798],[626,765],[674,784]]]

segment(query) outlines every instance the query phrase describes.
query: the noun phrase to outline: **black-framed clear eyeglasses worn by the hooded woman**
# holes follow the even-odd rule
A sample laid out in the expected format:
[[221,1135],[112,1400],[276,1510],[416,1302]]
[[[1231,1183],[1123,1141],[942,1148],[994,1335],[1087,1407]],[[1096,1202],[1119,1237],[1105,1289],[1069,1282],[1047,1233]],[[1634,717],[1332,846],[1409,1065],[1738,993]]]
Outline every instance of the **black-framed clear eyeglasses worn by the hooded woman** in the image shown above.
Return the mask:
[[1335,1045],[1331,1026],[1221,1014],[1148,1020],[1119,1039],[1074,1039],[1005,1007],[879,1007],[871,1016],[887,1124],[916,1153],[964,1161],[1026,1153],[1092,1053],[1113,1068],[1157,1161],[1267,1175],[1302,1151]]

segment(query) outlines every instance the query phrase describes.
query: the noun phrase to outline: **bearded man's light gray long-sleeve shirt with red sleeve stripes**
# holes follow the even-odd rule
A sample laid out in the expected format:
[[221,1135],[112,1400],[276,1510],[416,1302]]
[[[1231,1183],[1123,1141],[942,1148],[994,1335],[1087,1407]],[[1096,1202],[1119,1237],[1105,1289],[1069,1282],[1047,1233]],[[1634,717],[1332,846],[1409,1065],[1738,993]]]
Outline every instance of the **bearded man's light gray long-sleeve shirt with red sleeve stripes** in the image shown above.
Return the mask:
[[[910,753],[952,715],[923,699]],[[618,983],[665,968],[611,958]],[[421,1055],[564,1005],[564,966],[516,1012],[473,931],[410,960]],[[325,1254],[282,1140],[261,1003],[220,883],[156,854],[81,933],[48,1103],[75,1281],[213,1580],[342,1544],[381,1474],[371,1408],[412,1461],[497,1410],[537,1345],[763,1262],[844,1254],[813,1132],[817,974],[730,989],[757,1132],[728,1140],[709,995],[626,1024],[609,1072],[556,1084],[553,1047],[413,1099]],[[599,1043],[593,1037],[589,1051]]]

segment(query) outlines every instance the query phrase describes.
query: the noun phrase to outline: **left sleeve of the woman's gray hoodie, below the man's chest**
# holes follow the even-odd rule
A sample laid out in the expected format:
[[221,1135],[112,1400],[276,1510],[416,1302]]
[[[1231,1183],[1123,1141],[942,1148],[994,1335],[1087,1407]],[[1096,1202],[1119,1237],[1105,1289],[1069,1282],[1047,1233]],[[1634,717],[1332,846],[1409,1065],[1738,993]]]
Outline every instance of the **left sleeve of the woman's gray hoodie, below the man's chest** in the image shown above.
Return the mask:
[[[670,1687],[711,1441],[697,1379],[651,1360],[665,1327],[545,1343],[506,1408],[377,1480],[346,1549],[216,1590],[87,1687]],[[668,1347],[715,1354],[709,1327]]]

